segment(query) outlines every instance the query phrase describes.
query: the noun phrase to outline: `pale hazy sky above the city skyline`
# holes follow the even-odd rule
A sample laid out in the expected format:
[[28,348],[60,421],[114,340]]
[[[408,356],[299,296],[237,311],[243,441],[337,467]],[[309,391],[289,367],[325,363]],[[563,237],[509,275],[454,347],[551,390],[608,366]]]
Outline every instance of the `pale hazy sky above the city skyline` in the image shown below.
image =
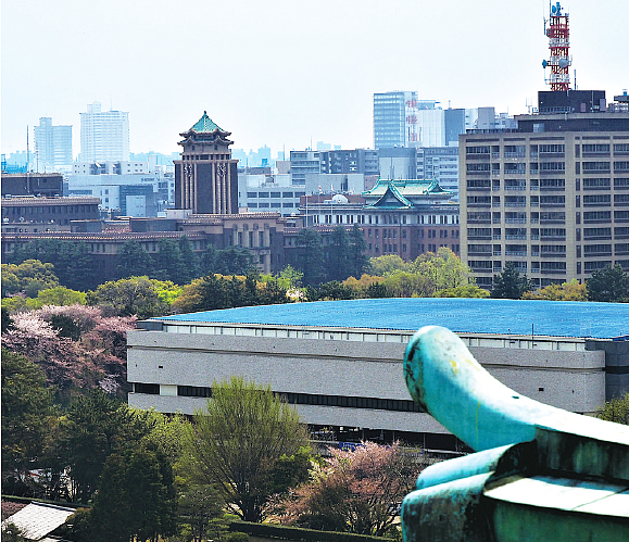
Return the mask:
[[[629,0],[569,0],[580,89],[629,87]],[[169,153],[206,110],[235,148],[373,146],[373,93],[526,112],[544,85],[543,0],[3,0],[2,142],[129,112],[130,150]],[[571,75],[571,72],[570,72]],[[33,134],[33,131],[30,131]]]

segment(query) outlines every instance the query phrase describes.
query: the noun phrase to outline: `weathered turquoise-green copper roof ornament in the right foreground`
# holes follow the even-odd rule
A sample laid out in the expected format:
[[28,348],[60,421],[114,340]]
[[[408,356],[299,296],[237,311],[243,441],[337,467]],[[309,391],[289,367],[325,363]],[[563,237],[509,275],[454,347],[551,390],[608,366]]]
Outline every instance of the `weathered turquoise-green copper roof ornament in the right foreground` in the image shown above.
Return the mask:
[[405,542],[629,540],[629,428],[544,405],[495,380],[450,330],[411,339],[413,399],[477,453],[425,469]]

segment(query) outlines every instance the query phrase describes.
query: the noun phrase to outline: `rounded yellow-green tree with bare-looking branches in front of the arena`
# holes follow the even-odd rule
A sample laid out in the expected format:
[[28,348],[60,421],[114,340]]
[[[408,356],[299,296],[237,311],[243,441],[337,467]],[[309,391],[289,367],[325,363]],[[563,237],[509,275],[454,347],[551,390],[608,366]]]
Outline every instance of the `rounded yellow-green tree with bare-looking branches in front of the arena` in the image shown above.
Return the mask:
[[[187,469],[200,483],[216,484],[228,508],[246,521],[261,521],[273,493],[307,476],[306,431],[297,412],[268,387],[236,377],[215,382],[193,427],[186,442]],[[278,487],[277,470],[286,462],[293,464],[295,476]]]

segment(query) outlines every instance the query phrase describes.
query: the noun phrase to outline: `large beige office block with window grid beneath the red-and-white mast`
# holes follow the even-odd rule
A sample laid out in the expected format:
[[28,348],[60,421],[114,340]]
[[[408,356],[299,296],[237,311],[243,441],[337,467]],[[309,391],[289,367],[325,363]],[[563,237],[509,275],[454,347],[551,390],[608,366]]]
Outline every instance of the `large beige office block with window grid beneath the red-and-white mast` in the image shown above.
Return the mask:
[[629,270],[627,110],[516,119],[460,136],[461,257],[477,283],[491,288],[507,262],[539,287]]

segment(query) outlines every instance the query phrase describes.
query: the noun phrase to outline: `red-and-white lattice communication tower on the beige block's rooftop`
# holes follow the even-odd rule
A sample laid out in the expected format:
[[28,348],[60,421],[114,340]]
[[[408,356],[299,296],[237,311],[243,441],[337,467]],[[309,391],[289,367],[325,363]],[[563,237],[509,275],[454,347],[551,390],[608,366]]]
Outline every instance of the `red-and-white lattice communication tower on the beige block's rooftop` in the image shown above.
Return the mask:
[[[546,23],[549,26],[546,27]],[[551,58],[542,62],[544,68],[551,68],[551,76],[545,78],[551,90],[569,90],[569,67],[573,63],[568,54],[570,49],[570,15],[557,2],[550,8],[550,18],[544,20],[544,31],[549,38]]]

